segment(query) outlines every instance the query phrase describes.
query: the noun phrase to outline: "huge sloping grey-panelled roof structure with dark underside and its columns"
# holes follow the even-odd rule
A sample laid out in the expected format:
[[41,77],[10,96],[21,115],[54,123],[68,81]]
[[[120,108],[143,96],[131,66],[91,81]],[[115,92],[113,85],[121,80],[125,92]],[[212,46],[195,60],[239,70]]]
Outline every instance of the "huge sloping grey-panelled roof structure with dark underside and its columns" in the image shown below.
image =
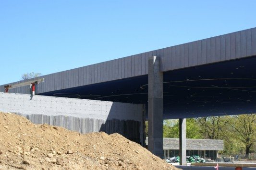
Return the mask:
[[[252,28],[44,75],[36,94],[146,104],[148,149],[158,156],[162,119],[179,118],[185,160],[185,118],[256,112],[255,65]],[[30,94],[30,88],[9,92]]]

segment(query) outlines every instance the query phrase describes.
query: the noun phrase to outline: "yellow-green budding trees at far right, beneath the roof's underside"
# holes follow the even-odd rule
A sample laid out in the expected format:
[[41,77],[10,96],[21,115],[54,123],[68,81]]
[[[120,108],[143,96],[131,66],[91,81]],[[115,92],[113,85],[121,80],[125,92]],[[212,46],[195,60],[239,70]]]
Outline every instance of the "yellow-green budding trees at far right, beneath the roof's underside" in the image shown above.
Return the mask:
[[256,114],[196,118],[206,139],[222,139],[226,155],[248,155],[256,144]]

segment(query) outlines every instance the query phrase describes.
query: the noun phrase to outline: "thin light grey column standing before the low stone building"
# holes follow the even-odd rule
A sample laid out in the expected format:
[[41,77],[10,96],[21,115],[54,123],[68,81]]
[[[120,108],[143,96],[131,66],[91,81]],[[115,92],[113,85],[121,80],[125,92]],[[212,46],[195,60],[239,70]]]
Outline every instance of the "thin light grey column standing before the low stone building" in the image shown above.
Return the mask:
[[179,119],[179,137],[180,137],[180,165],[186,165],[186,119]]

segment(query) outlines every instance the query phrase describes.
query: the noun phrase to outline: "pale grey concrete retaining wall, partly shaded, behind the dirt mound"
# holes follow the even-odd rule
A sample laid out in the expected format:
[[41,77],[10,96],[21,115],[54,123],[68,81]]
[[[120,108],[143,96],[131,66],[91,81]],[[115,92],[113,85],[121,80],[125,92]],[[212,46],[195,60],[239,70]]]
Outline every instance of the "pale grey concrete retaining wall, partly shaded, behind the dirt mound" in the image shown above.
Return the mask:
[[143,105],[0,93],[0,111],[22,115],[37,124],[80,133],[120,133],[135,142],[143,141]]

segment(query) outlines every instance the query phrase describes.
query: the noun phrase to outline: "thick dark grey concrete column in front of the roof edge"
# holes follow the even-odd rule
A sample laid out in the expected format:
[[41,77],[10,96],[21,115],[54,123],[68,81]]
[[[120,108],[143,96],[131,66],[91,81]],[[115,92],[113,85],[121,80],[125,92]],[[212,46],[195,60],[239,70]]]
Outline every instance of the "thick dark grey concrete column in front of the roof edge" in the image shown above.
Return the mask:
[[148,150],[163,158],[163,73],[159,58],[148,58]]

